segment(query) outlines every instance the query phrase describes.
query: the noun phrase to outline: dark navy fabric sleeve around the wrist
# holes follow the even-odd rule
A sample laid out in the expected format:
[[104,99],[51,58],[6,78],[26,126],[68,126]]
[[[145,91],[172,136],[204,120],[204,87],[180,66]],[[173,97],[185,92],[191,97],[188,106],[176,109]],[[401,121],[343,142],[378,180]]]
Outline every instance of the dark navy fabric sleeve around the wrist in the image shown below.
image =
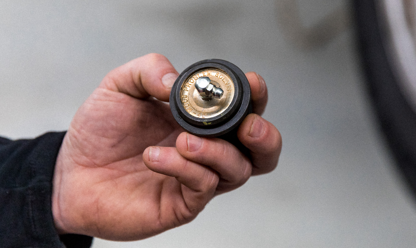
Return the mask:
[[65,133],[33,140],[0,138],[0,246],[88,248],[92,237],[59,236],[52,217],[52,177]]

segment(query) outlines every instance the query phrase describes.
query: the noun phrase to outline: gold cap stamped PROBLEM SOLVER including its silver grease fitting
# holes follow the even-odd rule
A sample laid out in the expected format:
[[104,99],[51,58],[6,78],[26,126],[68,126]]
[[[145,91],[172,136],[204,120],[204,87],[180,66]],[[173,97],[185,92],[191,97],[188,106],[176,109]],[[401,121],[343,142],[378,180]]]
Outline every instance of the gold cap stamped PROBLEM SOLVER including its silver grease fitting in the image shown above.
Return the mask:
[[213,118],[221,115],[230,106],[234,91],[234,82],[225,71],[216,68],[203,69],[183,81],[181,102],[190,115]]

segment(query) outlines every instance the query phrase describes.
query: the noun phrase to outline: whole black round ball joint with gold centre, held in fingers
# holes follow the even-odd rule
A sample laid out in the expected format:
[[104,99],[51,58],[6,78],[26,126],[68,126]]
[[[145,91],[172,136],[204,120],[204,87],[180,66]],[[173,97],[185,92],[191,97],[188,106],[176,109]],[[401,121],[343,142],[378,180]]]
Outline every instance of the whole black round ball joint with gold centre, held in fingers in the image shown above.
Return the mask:
[[169,101],[173,116],[188,133],[241,145],[236,132],[252,111],[251,91],[234,64],[221,59],[196,62],[178,76]]

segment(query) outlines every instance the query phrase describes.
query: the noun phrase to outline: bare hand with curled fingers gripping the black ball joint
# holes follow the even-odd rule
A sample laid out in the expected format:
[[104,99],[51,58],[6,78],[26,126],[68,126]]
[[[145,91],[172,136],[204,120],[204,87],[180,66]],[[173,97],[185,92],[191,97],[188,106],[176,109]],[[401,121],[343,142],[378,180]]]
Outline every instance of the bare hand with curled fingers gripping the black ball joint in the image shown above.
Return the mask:
[[251,160],[224,140],[183,132],[166,103],[177,76],[164,56],[148,54],[111,71],[78,109],[54,172],[59,233],[147,238],[191,221],[213,196],[276,167],[282,141],[258,115],[267,103],[260,76],[246,74],[254,113],[238,130]]

